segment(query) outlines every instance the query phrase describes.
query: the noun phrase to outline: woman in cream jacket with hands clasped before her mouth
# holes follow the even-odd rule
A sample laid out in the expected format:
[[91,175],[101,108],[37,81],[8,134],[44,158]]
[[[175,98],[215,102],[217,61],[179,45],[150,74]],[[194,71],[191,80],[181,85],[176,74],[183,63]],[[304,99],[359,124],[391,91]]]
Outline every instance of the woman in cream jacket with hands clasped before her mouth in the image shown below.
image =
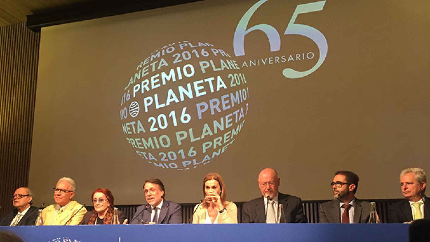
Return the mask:
[[237,206],[226,201],[227,188],[217,173],[203,179],[203,202],[194,207],[193,224],[237,224]]

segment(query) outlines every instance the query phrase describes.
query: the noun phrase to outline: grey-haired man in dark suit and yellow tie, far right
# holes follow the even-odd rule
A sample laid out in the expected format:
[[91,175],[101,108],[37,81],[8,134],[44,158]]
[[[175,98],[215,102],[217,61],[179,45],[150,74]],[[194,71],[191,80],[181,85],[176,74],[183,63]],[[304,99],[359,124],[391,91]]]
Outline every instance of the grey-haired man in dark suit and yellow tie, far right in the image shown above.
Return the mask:
[[388,222],[411,223],[430,219],[430,198],[425,196],[426,173],[422,168],[406,168],[400,172],[400,186],[405,200],[390,205]]

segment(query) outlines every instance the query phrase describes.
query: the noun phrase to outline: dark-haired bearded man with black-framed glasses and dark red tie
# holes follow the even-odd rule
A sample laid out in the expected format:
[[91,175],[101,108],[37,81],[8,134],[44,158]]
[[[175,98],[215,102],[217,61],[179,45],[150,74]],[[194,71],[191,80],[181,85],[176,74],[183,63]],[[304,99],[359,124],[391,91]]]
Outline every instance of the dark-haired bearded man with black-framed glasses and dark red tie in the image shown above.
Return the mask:
[[319,223],[367,223],[371,206],[355,197],[358,176],[350,171],[338,171],[330,184],[336,200],[319,205]]

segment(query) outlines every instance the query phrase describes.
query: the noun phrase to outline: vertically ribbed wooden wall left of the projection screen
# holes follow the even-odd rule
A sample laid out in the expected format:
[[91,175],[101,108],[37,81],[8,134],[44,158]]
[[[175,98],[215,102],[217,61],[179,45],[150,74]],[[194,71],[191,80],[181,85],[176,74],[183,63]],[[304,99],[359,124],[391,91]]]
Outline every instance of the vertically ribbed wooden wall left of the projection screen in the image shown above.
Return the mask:
[[39,42],[25,23],[0,27],[0,214],[28,186]]

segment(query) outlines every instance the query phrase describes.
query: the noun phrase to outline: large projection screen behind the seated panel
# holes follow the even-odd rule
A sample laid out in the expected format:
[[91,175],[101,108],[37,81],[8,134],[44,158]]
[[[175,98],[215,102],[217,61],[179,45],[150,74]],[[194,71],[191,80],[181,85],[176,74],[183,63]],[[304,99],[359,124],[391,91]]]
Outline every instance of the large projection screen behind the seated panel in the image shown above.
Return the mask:
[[52,203],[67,176],[141,204],[197,202],[209,172],[227,199],[279,190],[331,199],[340,169],[361,199],[399,198],[430,171],[430,2],[218,0],[42,28],[29,186]]

